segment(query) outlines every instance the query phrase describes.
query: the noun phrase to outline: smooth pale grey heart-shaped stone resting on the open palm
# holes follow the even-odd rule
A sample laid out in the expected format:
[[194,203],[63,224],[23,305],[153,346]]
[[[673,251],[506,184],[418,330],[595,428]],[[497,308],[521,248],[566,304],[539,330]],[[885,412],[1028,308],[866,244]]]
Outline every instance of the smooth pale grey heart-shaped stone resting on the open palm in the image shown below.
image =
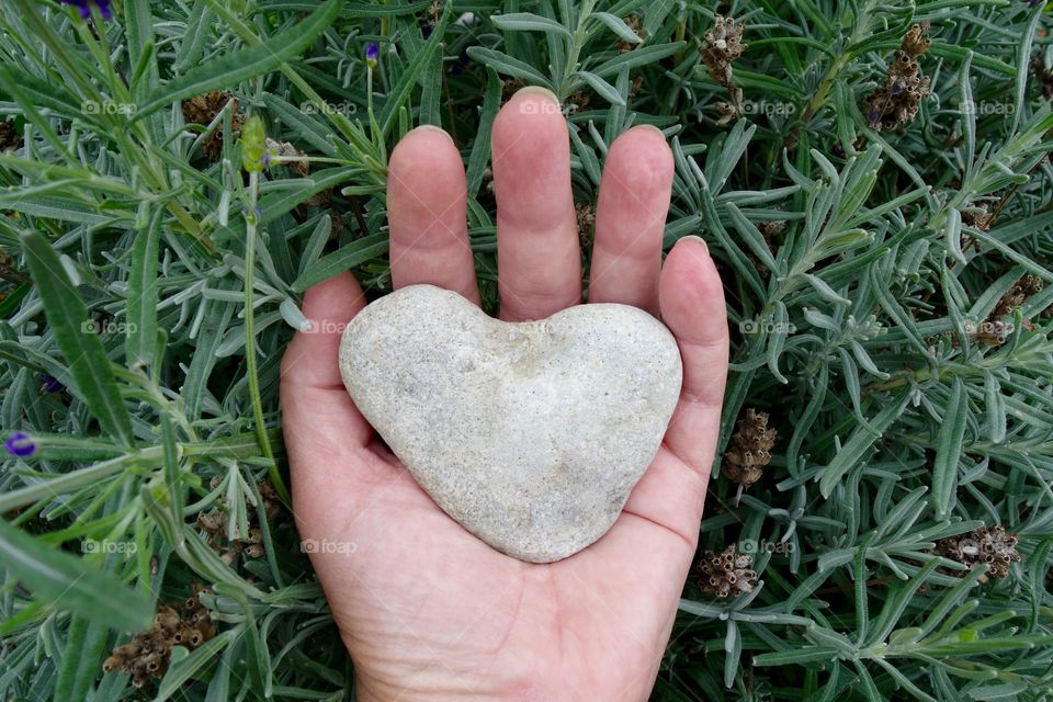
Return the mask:
[[550,563],[611,528],[680,394],[672,335],[626,305],[505,322],[410,285],[348,325],[340,373],[359,410],[462,526]]

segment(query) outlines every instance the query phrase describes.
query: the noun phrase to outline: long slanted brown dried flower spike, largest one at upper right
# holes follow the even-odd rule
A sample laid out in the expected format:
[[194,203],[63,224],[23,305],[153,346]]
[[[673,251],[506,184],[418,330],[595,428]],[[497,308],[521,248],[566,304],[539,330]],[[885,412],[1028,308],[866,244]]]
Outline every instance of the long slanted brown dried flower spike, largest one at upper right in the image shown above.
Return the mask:
[[918,105],[931,93],[929,78],[921,75],[918,63],[931,44],[928,30],[928,22],[910,27],[893,55],[885,83],[867,99],[864,112],[874,129],[895,129],[910,122],[918,114]]

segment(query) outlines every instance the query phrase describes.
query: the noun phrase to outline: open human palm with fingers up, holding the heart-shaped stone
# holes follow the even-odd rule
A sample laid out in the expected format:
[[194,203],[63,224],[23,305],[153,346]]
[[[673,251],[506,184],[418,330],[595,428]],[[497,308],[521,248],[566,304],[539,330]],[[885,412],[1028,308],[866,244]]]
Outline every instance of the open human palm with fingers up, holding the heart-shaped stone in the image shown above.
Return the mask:
[[[558,105],[523,90],[494,124],[500,317],[581,302],[569,140]],[[727,370],[721,281],[701,239],[661,264],[673,178],[663,135],[634,127],[610,147],[597,207],[589,302],[661,316],[680,347],[680,400],[654,462],[611,530],[580,553],[530,564],[442,512],[376,439],[344,389],[340,333],[297,333],[281,403],[296,524],[341,637],[359,700],[645,700],[690,570]],[[395,287],[430,283],[478,304],[465,174],[433,127],[392,154],[387,205]],[[342,328],[365,302],[343,273],[304,296]]]

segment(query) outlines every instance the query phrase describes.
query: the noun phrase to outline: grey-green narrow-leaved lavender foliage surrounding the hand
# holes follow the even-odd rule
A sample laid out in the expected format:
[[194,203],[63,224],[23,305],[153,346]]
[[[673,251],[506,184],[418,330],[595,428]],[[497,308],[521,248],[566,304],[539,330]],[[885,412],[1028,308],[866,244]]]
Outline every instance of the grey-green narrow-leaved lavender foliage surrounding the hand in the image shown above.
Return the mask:
[[[139,699],[102,660],[195,585],[219,631],[150,694],[353,693],[292,520],[265,509],[264,478],[285,494],[279,361],[310,284],[390,287],[387,155],[416,124],[464,155],[495,308],[488,135],[519,79],[567,107],[578,203],[631,125],[670,137],[665,242],[707,240],[733,328],[718,455],[747,407],[778,431],[738,500],[717,460],[701,525],[760,581],[721,600],[689,579],[654,699],[1050,699],[1053,111],[1031,61],[1053,65],[1051,14],[723,5],[749,45],[727,126],[705,3],[118,0],[91,25],[4,0],[0,426],[35,451],[0,468],[0,697]],[[931,95],[878,132],[860,105],[918,22]],[[213,90],[189,122],[180,101]],[[262,557],[217,551],[217,508]],[[995,525],[1019,539],[1005,577],[937,548]]]

